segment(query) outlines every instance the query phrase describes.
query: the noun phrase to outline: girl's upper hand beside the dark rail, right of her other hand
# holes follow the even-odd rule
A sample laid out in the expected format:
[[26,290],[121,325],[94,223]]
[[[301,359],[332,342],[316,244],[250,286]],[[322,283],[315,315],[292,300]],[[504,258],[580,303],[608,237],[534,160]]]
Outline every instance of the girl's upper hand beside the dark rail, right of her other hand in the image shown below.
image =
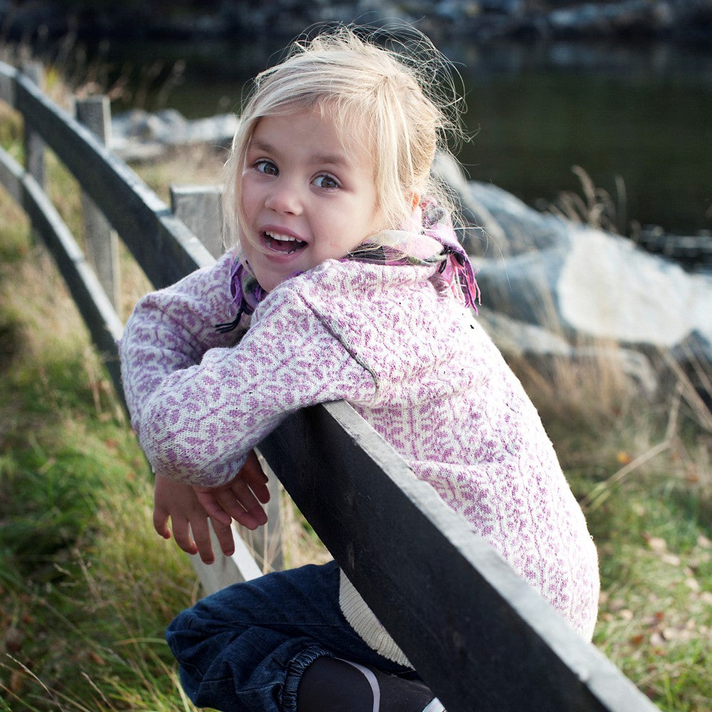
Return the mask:
[[269,501],[267,476],[254,451],[230,482],[219,487],[193,487],[198,501],[213,523],[227,525],[234,519],[248,529],[267,523],[262,507]]

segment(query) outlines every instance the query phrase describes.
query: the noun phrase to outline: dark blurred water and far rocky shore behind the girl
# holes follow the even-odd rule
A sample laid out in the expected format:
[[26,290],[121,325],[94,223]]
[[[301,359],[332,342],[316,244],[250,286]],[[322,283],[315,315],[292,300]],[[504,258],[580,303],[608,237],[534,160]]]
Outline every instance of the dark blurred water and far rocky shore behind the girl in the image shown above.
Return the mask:
[[[710,0],[96,0],[0,2],[22,43],[116,114],[239,111],[244,82],[318,21],[421,28],[458,66],[473,180],[532,206],[580,189],[619,202],[619,231],[712,229]],[[621,192],[623,194],[621,194]]]

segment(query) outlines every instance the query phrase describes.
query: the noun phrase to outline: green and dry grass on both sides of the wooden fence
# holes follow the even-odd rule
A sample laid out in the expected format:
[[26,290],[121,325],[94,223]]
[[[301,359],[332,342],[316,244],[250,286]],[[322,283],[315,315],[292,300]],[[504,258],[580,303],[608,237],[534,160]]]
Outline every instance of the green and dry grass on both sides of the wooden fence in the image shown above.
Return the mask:
[[[148,468],[53,264],[1,191],[0,212],[0,711],[192,710],[162,637],[192,568],[153,533]],[[647,401],[604,362],[514,367],[599,546],[596,646],[662,710],[707,710],[712,434],[693,395],[672,375]]]

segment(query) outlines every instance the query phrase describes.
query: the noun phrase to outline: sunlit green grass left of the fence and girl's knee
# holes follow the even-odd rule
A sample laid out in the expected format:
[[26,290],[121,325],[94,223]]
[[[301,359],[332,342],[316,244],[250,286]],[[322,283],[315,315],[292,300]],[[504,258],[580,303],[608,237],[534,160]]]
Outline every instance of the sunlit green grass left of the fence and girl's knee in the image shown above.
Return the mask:
[[0,709],[192,709],[163,641],[196,595],[192,567],[152,532],[117,397],[0,198]]

